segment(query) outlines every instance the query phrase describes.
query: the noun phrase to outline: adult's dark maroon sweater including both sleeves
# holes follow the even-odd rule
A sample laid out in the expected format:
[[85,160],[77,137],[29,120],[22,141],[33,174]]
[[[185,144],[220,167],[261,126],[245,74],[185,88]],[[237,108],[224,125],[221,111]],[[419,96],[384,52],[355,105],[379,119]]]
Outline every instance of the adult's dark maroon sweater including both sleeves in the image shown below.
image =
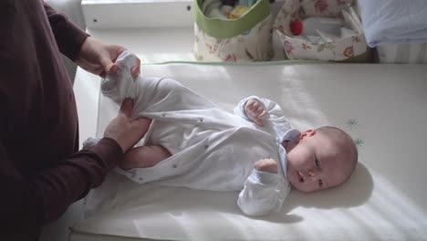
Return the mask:
[[[78,115],[60,52],[88,37],[42,0],[0,1],[0,239],[37,234],[122,158],[102,139],[78,152]],[[2,239],[3,240],[3,239]]]

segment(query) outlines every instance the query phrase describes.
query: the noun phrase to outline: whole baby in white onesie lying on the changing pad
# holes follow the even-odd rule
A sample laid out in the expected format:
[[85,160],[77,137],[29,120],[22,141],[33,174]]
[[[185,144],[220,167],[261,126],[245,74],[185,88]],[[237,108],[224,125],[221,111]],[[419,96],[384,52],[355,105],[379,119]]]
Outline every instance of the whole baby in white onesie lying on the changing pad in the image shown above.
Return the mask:
[[246,215],[280,210],[290,187],[314,192],[344,183],[358,160],[344,131],[292,129],[272,100],[241,100],[234,114],[220,109],[173,79],[133,81],[133,56],[123,53],[120,69],[102,82],[117,103],[135,101],[133,115],[151,119],[141,146],[125,155],[116,171],[136,183],[240,191]]

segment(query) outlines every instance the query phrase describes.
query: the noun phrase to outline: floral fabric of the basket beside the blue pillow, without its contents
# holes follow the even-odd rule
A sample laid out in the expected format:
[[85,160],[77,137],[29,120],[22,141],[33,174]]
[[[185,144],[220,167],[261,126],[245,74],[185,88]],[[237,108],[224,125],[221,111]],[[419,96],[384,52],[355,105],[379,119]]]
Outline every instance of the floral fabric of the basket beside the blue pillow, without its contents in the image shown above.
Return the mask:
[[[355,34],[329,41],[314,43],[291,33],[292,21],[309,16],[337,17],[341,10],[354,5],[352,0],[286,0],[277,14],[274,28],[280,37],[288,59],[319,59],[330,61],[368,61],[370,59],[359,16],[348,11],[353,21]],[[356,25],[356,26],[355,26]]]

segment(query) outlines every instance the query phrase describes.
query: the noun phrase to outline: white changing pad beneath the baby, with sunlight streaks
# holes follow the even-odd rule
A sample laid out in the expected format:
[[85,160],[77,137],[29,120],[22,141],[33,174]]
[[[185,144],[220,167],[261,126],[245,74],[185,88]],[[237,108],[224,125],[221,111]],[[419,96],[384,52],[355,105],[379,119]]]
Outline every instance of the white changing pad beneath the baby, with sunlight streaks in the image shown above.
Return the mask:
[[[359,146],[344,185],[292,191],[279,214],[243,215],[237,193],[131,183],[110,173],[89,194],[70,240],[427,240],[427,68],[422,65],[144,65],[232,111],[257,95],[276,100],[305,130],[335,125]],[[99,130],[118,107],[100,98]]]

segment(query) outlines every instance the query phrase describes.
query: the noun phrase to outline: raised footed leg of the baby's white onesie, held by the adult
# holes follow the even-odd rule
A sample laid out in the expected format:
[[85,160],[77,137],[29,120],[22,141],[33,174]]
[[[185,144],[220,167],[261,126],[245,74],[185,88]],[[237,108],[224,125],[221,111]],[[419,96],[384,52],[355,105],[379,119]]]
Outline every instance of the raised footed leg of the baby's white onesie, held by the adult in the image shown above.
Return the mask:
[[[184,87],[179,81],[169,78],[141,77],[133,79],[130,68],[136,56],[129,50],[123,51],[116,60],[119,70],[107,74],[101,81],[104,96],[119,104],[125,98],[134,100],[132,117],[155,118],[166,116],[167,112],[182,110],[208,110],[217,106],[210,100]],[[169,114],[167,117],[170,118]]]

